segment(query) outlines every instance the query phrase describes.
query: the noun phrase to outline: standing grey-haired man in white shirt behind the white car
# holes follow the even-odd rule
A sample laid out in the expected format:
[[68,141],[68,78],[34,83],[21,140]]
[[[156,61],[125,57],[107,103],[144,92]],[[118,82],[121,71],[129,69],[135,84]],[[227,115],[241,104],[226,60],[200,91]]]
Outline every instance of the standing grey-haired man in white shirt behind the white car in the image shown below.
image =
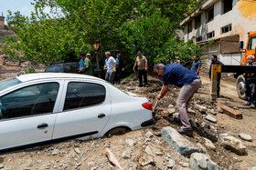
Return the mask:
[[105,80],[110,82],[113,85],[113,79],[116,72],[117,63],[115,59],[112,57],[111,52],[107,51],[105,55],[106,55],[106,58],[108,59],[108,69],[105,76]]

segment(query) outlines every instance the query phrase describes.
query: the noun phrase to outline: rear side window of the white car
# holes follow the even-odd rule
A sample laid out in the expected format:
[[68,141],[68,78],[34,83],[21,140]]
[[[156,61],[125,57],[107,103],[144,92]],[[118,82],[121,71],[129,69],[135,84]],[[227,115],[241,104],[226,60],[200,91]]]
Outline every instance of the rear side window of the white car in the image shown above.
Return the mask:
[[64,104],[64,111],[84,106],[101,104],[105,100],[106,89],[103,85],[70,82]]

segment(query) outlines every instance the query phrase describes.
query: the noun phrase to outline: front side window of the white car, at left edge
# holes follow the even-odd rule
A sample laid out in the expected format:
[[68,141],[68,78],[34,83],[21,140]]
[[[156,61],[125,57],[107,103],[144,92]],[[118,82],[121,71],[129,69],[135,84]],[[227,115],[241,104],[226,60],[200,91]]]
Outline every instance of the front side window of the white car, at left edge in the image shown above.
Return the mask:
[[0,97],[0,119],[51,113],[58,83],[30,85]]

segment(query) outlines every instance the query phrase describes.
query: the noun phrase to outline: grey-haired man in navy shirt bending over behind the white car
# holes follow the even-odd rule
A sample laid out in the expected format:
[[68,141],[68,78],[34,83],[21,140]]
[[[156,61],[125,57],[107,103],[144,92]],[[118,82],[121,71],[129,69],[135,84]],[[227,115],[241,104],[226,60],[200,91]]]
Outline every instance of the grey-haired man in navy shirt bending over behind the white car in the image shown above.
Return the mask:
[[177,132],[184,135],[192,135],[192,128],[187,118],[187,105],[191,97],[201,86],[199,76],[187,69],[186,67],[178,64],[156,64],[154,66],[155,72],[158,75],[163,75],[164,86],[157,99],[163,98],[168,91],[168,85],[176,85],[182,87],[178,98],[176,100],[176,107],[179,111],[178,119],[182,123],[181,129]]

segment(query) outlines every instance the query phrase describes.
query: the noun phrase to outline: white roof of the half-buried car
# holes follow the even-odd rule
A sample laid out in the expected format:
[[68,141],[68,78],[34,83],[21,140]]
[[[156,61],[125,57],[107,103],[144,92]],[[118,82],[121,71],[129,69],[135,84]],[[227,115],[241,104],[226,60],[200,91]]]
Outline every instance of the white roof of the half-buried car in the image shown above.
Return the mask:
[[51,78],[85,78],[91,80],[101,80],[101,78],[91,76],[91,75],[80,75],[80,74],[65,74],[65,73],[36,73],[36,74],[27,74],[27,75],[17,75],[16,78],[21,82],[27,82],[32,80],[39,79],[51,79]]

